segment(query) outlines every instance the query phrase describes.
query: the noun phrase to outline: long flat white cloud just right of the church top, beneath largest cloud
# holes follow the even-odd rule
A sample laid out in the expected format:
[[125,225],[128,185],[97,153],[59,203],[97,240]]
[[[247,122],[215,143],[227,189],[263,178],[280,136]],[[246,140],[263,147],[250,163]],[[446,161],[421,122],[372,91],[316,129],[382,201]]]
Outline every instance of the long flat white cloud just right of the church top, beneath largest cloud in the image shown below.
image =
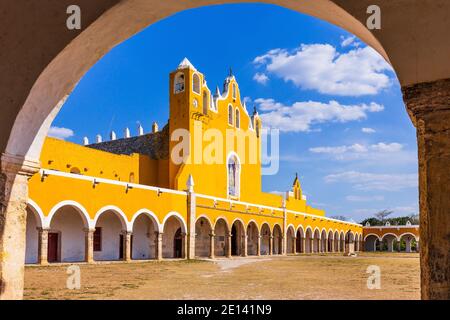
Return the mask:
[[367,118],[369,112],[384,110],[377,103],[342,105],[337,101],[328,103],[307,101],[295,102],[286,106],[273,99],[256,99],[262,113],[260,116],[265,126],[280,129],[281,131],[301,132],[311,131],[311,126],[324,122],[349,122]]

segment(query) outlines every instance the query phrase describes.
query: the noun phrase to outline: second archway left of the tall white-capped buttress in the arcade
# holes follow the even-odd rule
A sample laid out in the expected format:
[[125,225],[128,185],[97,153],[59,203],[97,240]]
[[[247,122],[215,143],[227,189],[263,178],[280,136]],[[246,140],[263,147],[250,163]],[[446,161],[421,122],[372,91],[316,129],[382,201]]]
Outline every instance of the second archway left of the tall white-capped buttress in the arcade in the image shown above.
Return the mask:
[[148,260],[156,258],[158,222],[153,216],[141,213],[133,222],[131,259]]

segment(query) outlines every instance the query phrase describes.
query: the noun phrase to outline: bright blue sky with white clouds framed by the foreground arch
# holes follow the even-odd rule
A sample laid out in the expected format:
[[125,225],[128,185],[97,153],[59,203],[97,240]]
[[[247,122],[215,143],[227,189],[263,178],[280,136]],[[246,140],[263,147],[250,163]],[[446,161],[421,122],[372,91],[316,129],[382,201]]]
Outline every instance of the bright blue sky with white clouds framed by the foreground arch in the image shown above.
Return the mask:
[[395,74],[346,31],[277,6],[204,7],[150,26],[85,75],[51,134],[81,143],[164,125],[168,74],[184,57],[211,89],[232,67],[248,108],[282,130],[280,171],[263,177],[264,191],[289,189],[298,172],[328,216],[418,212],[415,129]]

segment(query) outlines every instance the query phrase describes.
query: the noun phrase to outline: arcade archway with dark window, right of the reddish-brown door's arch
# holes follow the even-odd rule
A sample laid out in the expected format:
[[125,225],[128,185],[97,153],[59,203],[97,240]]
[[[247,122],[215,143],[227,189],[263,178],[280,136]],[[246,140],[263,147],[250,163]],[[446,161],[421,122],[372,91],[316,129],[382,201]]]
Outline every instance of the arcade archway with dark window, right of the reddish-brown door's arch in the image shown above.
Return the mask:
[[95,218],[94,260],[123,260],[126,250],[126,232],[126,217],[119,209],[100,210]]

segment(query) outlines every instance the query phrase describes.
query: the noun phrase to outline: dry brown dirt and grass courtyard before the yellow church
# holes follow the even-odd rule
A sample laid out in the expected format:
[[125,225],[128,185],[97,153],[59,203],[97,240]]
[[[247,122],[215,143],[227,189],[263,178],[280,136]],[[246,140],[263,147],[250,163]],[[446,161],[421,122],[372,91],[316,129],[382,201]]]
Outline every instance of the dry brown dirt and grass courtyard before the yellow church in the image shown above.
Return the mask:
[[[368,289],[367,268],[381,270]],[[419,255],[287,256],[79,264],[81,289],[64,266],[27,267],[25,299],[419,299]]]

